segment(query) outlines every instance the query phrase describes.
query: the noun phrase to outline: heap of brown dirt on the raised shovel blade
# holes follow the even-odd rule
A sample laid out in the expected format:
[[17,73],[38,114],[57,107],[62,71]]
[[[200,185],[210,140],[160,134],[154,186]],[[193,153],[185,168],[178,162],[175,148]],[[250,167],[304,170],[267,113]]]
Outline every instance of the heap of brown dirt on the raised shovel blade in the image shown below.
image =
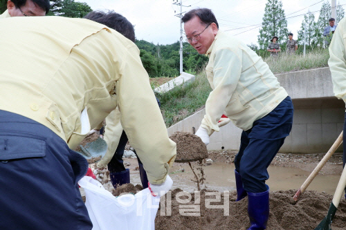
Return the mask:
[[197,135],[186,132],[176,132],[170,136],[176,142],[175,162],[194,162],[208,157],[208,150]]

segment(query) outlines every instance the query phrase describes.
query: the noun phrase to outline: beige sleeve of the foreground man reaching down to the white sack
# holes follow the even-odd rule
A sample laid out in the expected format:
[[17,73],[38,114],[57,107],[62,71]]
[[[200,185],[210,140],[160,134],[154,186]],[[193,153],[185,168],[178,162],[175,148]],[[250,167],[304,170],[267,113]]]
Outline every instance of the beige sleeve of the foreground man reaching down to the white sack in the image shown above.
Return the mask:
[[162,184],[175,160],[176,144],[168,138],[138,48],[128,48],[126,55],[116,82],[120,122],[143,163],[149,182]]

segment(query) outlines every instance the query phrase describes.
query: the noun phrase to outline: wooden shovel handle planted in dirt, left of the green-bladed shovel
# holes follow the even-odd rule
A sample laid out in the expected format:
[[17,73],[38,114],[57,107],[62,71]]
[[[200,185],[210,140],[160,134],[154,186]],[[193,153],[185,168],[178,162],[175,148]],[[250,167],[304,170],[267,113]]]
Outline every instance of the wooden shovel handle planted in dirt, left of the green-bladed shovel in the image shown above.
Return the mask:
[[322,160],[320,161],[320,163],[318,163],[318,165],[316,166],[315,169],[313,169],[312,173],[310,173],[309,177],[307,178],[307,180],[304,181],[304,183],[302,184],[302,186],[300,186],[300,189],[298,189],[298,191],[295,193],[295,195],[293,196],[293,200],[297,201],[300,198],[300,195],[302,193],[304,193],[304,191],[307,189],[307,187],[309,186],[309,184],[312,182],[312,180],[316,177],[316,175],[320,172],[320,170],[322,169],[323,166],[325,166],[325,163],[327,163],[327,161],[330,159],[331,155],[334,154],[334,152],[336,151],[336,149],[340,146],[340,144],[343,143],[343,131],[340,133],[340,135],[338,136],[338,139],[336,139],[336,141],[334,142],[334,144],[331,146],[331,148],[329,148],[329,151],[326,153],[326,155],[322,158]]

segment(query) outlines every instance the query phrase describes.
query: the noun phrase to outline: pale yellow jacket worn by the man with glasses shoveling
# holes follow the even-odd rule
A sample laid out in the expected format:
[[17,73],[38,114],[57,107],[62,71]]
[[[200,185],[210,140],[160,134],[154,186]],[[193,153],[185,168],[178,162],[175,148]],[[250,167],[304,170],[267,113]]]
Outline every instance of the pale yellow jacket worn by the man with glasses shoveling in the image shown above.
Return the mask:
[[209,135],[219,131],[217,122],[223,113],[246,131],[288,96],[262,58],[235,37],[217,32],[206,55],[212,92],[201,126]]

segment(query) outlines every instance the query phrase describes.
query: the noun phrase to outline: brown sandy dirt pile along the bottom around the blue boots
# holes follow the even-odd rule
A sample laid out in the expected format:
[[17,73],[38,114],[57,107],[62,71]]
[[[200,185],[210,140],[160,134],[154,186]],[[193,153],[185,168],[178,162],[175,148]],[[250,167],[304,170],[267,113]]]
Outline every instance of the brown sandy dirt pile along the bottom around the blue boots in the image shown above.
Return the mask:
[[[226,199],[229,202],[229,215],[224,215],[224,209],[211,209],[206,208],[207,200],[215,200],[215,195],[210,196],[208,191],[200,191],[200,198],[195,199],[195,194],[181,195],[181,189],[174,189],[172,191],[172,214],[167,215],[167,201],[166,205],[163,202],[167,198],[161,198],[161,209],[165,207],[165,211],[159,209],[156,215],[156,230],[194,230],[194,229],[228,229],[228,230],[240,230],[248,229],[250,227],[250,221],[248,219],[247,204],[248,199],[244,198],[239,202],[236,200],[236,192],[231,192],[229,198]],[[180,193],[180,203],[176,199],[176,195]],[[185,192],[184,192],[185,193]],[[189,193],[186,193],[189,194]],[[315,229],[317,225],[325,218],[331,203],[332,196],[326,193],[318,193],[316,191],[306,191],[302,194],[302,197],[298,202],[294,202],[292,199],[295,194],[294,190],[288,191],[275,191],[270,194],[270,214],[267,224],[268,230],[311,230]],[[181,202],[181,200],[188,199],[189,202]],[[164,200],[163,200],[164,199]],[[179,200],[179,199],[178,199]],[[199,204],[198,204],[199,203]],[[210,204],[221,205],[227,204],[225,202],[224,193],[221,193],[220,202],[212,202]],[[194,214],[197,216],[186,216],[188,212],[183,213],[183,209],[188,209],[190,206],[190,213],[192,213],[193,205],[196,205],[198,209],[194,209]],[[184,205],[185,207],[182,207]],[[179,208],[179,206],[181,206]],[[181,213],[184,215],[181,215]],[[161,215],[163,213],[163,215]],[[343,199],[336,211],[334,221],[331,224],[333,230],[346,229],[346,201]]]

